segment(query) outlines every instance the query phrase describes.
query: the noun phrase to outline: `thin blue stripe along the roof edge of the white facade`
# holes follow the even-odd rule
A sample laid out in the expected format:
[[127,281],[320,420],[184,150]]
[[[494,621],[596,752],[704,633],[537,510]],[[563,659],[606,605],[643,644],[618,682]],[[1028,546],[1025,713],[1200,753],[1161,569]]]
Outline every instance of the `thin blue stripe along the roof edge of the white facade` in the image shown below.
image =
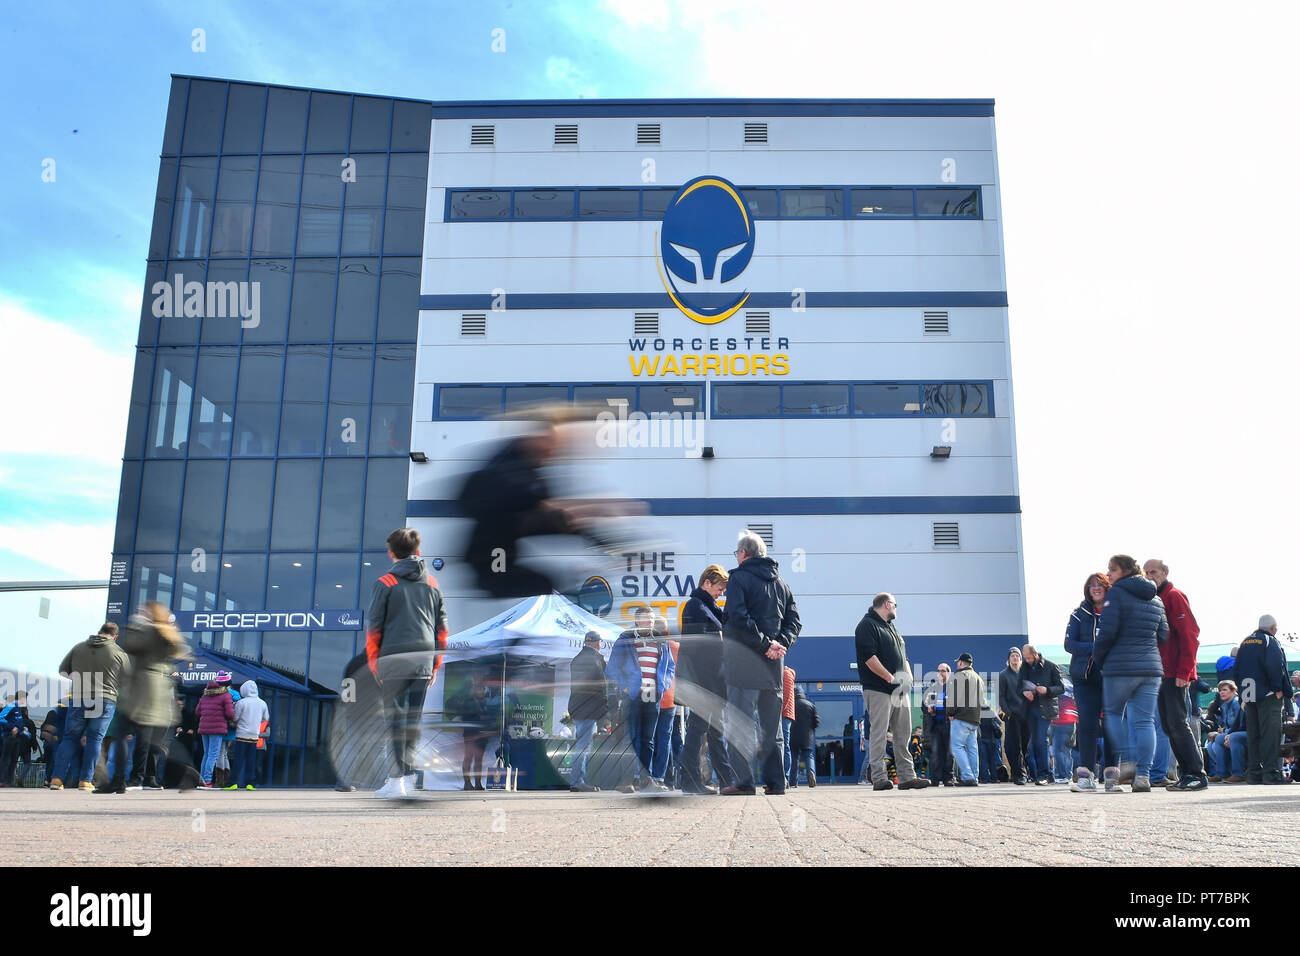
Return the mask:
[[584,116],[993,116],[993,100],[460,100],[433,104],[434,120]]

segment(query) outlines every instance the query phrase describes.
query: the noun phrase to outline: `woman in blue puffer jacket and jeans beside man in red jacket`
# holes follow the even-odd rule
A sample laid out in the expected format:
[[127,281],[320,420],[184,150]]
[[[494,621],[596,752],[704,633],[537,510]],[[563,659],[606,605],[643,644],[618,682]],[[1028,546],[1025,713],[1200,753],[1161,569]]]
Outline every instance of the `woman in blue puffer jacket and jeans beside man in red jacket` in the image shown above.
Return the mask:
[[[1102,710],[1106,740],[1117,767],[1106,767],[1106,792],[1132,783],[1134,793],[1150,792],[1150,762],[1156,756],[1156,696],[1165,666],[1160,645],[1169,637],[1165,605],[1156,585],[1127,554],[1117,554],[1106,568],[1112,587],[1101,607],[1092,659],[1102,670]],[[1136,753],[1130,752],[1128,732]]]

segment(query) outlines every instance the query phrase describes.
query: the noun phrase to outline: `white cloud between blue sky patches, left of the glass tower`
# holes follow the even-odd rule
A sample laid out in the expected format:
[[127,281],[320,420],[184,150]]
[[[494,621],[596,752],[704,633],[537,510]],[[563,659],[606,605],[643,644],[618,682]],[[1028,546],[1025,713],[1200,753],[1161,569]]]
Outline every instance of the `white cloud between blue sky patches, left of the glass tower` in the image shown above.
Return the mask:
[[[117,295],[109,285],[109,294]],[[87,300],[95,290],[87,289]],[[136,298],[139,291],[135,291]],[[0,294],[0,453],[122,457],[134,350],[109,352],[86,336]]]

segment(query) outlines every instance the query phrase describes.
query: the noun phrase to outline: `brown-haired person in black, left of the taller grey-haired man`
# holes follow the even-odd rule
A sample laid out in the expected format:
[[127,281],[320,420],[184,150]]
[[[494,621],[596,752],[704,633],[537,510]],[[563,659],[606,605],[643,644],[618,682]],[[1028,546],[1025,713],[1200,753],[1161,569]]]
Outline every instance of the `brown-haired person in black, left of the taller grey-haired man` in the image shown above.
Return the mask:
[[699,778],[701,744],[707,740],[708,762],[720,787],[736,783],[723,736],[727,680],[723,675],[723,624],[727,611],[718,598],[727,591],[728,574],[710,564],[699,575],[699,587],[681,609],[681,648],[677,652],[675,700],[690,708],[686,740],[681,748],[681,790],[686,793],[716,793]]

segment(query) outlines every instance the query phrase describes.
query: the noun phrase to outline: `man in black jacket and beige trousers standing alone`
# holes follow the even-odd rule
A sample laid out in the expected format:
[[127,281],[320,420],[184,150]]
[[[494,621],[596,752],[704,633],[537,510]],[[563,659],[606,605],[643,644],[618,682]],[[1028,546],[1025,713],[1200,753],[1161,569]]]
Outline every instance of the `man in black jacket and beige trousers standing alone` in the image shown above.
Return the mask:
[[901,741],[911,732],[911,665],[902,635],[894,627],[898,602],[893,594],[876,594],[853,633],[858,652],[858,680],[862,682],[862,700],[871,718],[871,777],[872,790],[893,790],[885,769],[888,734],[900,741],[894,748],[894,767],[898,771],[898,790],[923,790],[930,780],[916,777],[911,754]]

